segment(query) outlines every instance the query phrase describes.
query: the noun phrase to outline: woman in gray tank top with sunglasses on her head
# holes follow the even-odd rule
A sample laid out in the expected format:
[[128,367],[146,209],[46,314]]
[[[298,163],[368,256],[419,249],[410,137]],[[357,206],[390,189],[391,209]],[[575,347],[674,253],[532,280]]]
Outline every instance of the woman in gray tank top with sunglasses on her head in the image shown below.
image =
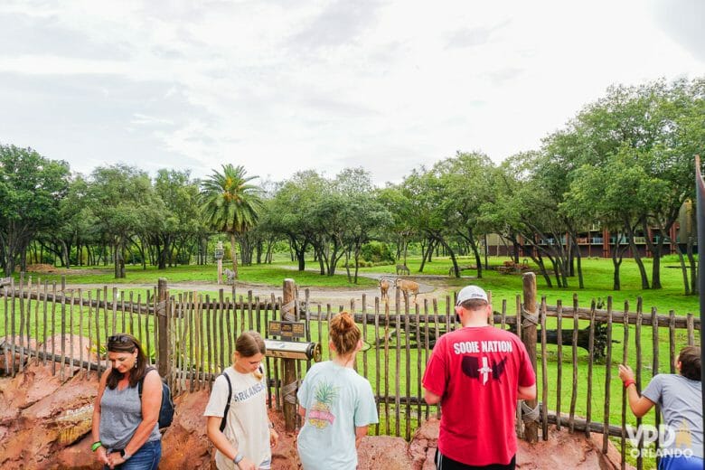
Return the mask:
[[156,470],[162,456],[159,374],[147,369],[142,345],[131,334],[108,337],[108,360],[110,368],[100,378],[93,406],[91,450],[104,468]]

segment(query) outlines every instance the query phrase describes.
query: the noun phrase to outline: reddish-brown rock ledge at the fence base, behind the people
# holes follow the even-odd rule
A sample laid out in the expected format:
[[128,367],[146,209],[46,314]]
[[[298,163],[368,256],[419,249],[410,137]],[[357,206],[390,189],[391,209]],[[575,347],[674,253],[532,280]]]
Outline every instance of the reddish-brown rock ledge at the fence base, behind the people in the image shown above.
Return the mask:
[[[68,368],[64,377],[69,377]],[[23,374],[0,379],[0,468],[3,469],[99,469],[90,452],[90,421],[95,400],[95,372],[85,371],[61,384],[52,365],[32,362]],[[215,468],[212,446],[205,436],[203,409],[208,390],[184,393],[175,399],[174,424],[164,433],[160,469]],[[280,440],[273,449],[272,469],[300,468],[296,434],[284,429],[282,414],[270,412]],[[432,470],[438,421],[429,420],[417,429],[410,443],[400,437],[364,437],[358,451],[362,470]],[[616,469],[619,454],[610,447],[601,452],[601,435],[550,431],[548,441],[530,445],[520,441],[517,468]],[[629,467],[631,468],[631,467]]]

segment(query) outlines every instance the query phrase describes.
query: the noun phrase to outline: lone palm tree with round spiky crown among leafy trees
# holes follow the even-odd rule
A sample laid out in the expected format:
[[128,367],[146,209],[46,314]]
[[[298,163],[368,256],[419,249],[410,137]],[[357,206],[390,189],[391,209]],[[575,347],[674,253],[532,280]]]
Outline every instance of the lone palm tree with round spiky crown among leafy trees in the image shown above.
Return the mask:
[[206,224],[213,230],[230,234],[232,270],[238,277],[235,252],[236,235],[251,229],[262,207],[258,186],[248,184],[257,176],[247,176],[241,165],[223,164],[222,173],[213,174],[201,183],[201,209]]

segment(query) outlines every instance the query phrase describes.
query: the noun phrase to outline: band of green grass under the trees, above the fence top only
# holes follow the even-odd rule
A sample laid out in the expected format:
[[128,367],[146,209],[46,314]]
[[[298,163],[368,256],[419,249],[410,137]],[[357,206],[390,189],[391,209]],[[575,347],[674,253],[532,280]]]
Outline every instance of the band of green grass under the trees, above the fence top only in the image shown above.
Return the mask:
[[[483,271],[482,279],[475,279],[475,270],[463,271],[463,278],[448,277],[448,268],[451,267],[449,258],[434,258],[433,262],[426,263],[424,275],[434,275],[435,279],[422,281],[432,284],[437,287],[437,292],[434,296],[443,302],[444,296],[454,290],[458,290],[467,284],[474,283],[485,290],[491,291],[493,295],[494,308],[499,309],[502,301],[507,301],[510,309],[515,304],[515,298],[522,293],[522,276],[521,275],[503,275],[492,269],[503,263],[508,258],[490,257],[490,269]],[[463,257],[458,259],[461,265],[474,264],[474,258]],[[419,258],[408,258],[407,264],[411,270],[411,276],[417,276],[420,266]],[[645,258],[644,264],[651,276],[652,259]],[[530,263],[531,265],[531,263]],[[620,291],[612,290],[613,268],[610,259],[584,258],[582,260],[583,272],[585,277],[584,289],[578,289],[578,278],[569,278],[569,287],[547,287],[543,277],[537,276],[537,287],[539,296],[546,296],[550,305],[555,305],[556,300],[560,299],[564,305],[572,305],[572,296],[578,294],[580,306],[589,306],[592,299],[606,299],[607,296],[612,296],[614,300],[614,308],[623,310],[625,302],[629,303],[630,309],[634,309],[636,298],[641,296],[644,300],[644,309],[648,312],[651,307],[656,307],[658,312],[667,314],[670,310],[674,310],[677,315],[685,315],[699,311],[698,296],[685,296],[683,294],[681,270],[669,268],[678,266],[674,258],[663,258],[662,260],[662,284],[661,289],[641,288],[641,281],[638,275],[638,270],[633,259],[626,258],[622,263],[621,281],[622,289]],[[230,265],[225,265],[230,266]],[[394,266],[378,266],[374,268],[360,268],[361,273],[377,273],[394,275]],[[313,260],[307,260],[306,270],[301,272],[296,270],[295,263],[287,259],[279,259],[273,264],[268,265],[253,265],[240,266],[239,281],[246,284],[270,286],[274,292],[280,291],[282,281],[286,277],[291,277],[296,280],[298,287],[331,287],[337,289],[350,288],[352,290],[361,288],[376,287],[377,281],[367,277],[358,277],[358,283],[351,284],[345,276],[344,268],[337,268],[336,275],[321,276],[317,269],[318,263]],[[154,267],[142,269],[141,266],[128,265],[126,267],[127,277],[116,279],[113,276],[111,267],[98,268],[72,268],[66,275],[66,282],[69,284],[116,284],[124,285],[126,289],[131,289],[130,285],[153,285],[159,277],[165,277],[169,283],[214,283],[216,281],[215,265],[204,266],[178,266],[163,270]],[[72,274],[75,273],[75,274]],[[61,275],[40,275],[42,282],[44,280],[61,283]],[[19,276],[15,275],[18,279]],[[34,282],[37,276],[33,275]],[[552,279],[555,285],[555,279]],[[206,291],[206,289],[200,289]],[[226,291],[230,290],[226,288]],[[211,290],[215,292],[215,290]],[[445,308],[441,304],[441,311]]]

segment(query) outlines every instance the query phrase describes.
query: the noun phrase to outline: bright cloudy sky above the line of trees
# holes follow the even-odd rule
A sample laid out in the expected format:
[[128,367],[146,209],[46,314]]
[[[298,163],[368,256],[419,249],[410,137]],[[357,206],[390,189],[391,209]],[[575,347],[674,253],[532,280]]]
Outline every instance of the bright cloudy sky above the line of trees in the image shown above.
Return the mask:
[[0,3],[0,143],[89,174],[376,183],[540,146],[610,84],[705,75],[705,2]]

